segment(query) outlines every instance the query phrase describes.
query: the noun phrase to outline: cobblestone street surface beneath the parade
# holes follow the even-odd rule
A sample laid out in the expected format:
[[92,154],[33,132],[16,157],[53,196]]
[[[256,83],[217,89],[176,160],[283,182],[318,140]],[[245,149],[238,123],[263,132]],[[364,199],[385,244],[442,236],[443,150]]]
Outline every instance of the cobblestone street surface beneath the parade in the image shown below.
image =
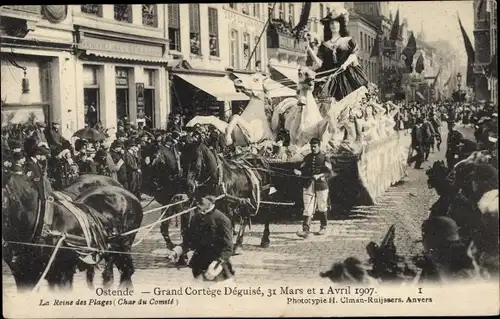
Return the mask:
[[[470,129],[461,129],[471,138]],[[446,129],[443,129],[443,139]],[[316,278],[320,271],[329,269],[333,262],[349,256],[367,259],[365,247],[370,241],[379,243],[390,225],[396,225],[395,245],[398,253],[411,255],[418,249],[415,240],[420,237],[420,225],[429,207],[437,199],[434,190],[427,187],[426,169],[436,160],[444,158],[446,141],[440,152],[434,152],[423,164],[424,169],[408,169],[408,176],[381,196],[377,205],[356,206],[346,217],[330,215],[328,231],[323,236],[300,239],[295,232],[299,221],[271,224],[271,246],[259,247],[263,225],[252,225],[244,241],[243,254],[233,257],[236,280],[239,283],[297,282]],[[145,203],[144,203],[145,204]],[[148,208],[149,209],[149,208]],[[160,212],[147,215],[144,224],[155,221]],[[319,228],[314,221],[312,231]],[[171,229],[172,239],[179,242],[179,230]],[[139,232],[137,238],[142,238]],[[133,249],[136,273],[133,280],[141,284],[178,285],[192,280],[189,268],[177,269],[165,258],[167,250],[159,227],[153,229],[145,240]],[[14,289],[14,282],[3,264],[4,289]],[[99,274],[99,271],[98,271]],[[116,274],[115,278],[119,278]],[[100,283],[100,276],[96,282]],[[75,285],[85,286],[84,274],[77,274]]]

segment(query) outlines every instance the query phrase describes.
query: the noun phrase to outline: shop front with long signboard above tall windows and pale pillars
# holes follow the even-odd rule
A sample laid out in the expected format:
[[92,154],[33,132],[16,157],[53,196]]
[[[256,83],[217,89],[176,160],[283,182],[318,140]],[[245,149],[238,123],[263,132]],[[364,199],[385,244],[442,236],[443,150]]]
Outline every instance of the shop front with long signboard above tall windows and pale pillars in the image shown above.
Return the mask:
[[101,124],[110,132],[117,124],[164,128],[168,105],[167,41],[82,30],[79,39],[77,94],[79,125]]

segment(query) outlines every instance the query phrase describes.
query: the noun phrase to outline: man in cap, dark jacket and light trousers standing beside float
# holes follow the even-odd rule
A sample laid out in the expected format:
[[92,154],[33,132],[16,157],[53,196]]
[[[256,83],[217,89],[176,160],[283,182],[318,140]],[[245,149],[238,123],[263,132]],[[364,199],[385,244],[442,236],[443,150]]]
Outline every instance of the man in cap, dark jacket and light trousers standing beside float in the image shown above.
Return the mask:
[[313,214],[319,215],[321,223],[318,235],[324,234],[328,214],[328,180],[332,175],[332,164],[320,151],[321,142],[318,138],[310,141],[311,153],[306,155],[299,169],[294,170],[297,176],[304,179],[303,185],[303,223],[302,231],[297,236],[307,238]]

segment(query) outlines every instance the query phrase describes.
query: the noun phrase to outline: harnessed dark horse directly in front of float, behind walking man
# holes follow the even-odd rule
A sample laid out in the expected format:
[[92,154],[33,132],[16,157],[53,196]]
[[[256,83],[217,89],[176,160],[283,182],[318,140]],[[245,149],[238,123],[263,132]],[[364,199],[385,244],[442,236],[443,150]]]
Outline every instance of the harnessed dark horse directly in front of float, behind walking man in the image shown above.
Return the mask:
[[[250,217],[257,213],[256,198],[265,198],[270,186],[267,162],[254,157],[241,160],[226,160],[203,142],[192,142],[185,146],[181,155],[184,178],[190,196],[224,195],[216,207],[228,215],[233,222],[240,222],[235,251],[241,248],[245,228]],[[267,169],[266,169],[267,168]],[[253,176],[253,177],[252,177]],[[258,187],[255,187],[259,184]],[[269,215],[266,214],[261,247],[268,247]]]

